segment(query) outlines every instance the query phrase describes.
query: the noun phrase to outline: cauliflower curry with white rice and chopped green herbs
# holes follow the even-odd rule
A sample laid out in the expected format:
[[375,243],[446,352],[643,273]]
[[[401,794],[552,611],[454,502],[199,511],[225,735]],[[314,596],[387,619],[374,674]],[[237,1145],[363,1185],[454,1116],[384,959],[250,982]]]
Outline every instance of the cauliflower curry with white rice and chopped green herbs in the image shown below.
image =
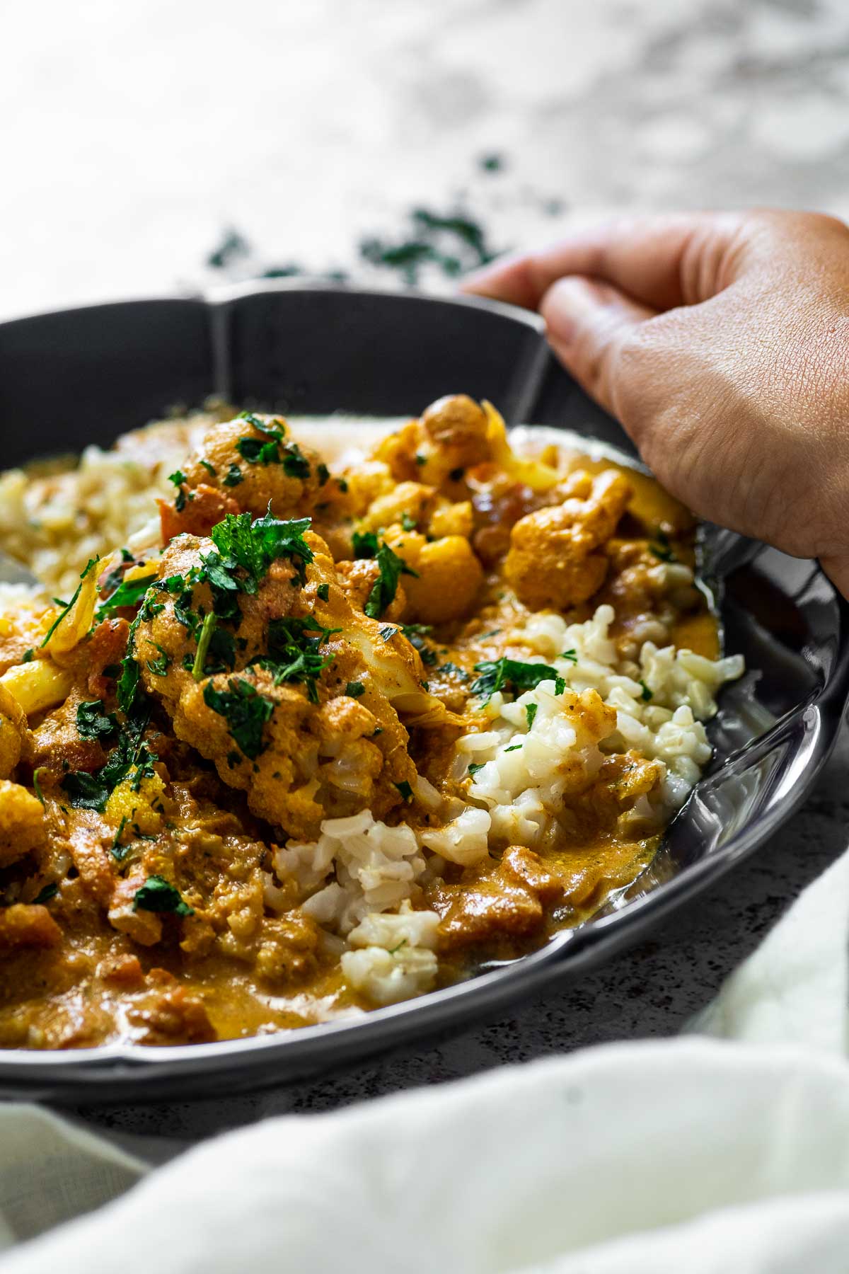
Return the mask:
[[223,417],[122,440],[150,521],[4,595],[3,1046],[283,1031],[533,949],[650,860],[741,671],[642,475],[465,395],[342,462]]

